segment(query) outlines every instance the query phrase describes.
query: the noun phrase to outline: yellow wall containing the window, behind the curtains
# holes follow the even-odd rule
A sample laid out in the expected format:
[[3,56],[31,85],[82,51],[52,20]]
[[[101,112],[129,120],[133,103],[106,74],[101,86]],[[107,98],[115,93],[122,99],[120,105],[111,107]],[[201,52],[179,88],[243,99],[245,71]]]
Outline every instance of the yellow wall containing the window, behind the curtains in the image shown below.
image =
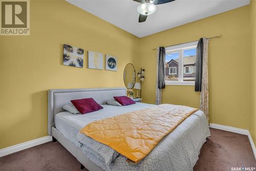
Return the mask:
[[[140,63],[145,69],[143,102],[155,103],[156,51],[159,46],[209,40],[209,119],[211,123],[249,129],[251,112],[251,53],[249,6],[211,16],[177,28],[141,38]],[[166,86],[163,103],[198,108],[200,93],[194,86]]]

